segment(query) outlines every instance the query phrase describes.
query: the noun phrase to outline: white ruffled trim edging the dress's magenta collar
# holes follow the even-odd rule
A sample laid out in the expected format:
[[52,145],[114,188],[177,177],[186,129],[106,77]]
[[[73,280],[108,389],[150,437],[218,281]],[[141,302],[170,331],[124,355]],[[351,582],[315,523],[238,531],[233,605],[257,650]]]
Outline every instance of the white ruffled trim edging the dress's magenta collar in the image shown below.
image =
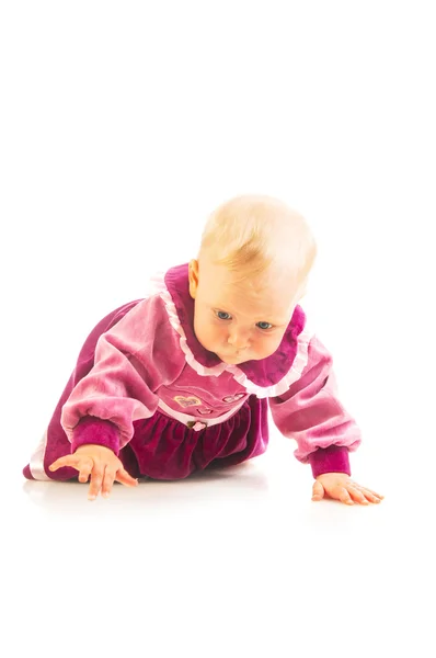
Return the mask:
[[150,281],[152,293],[158,294],[163,300],[170,324],[180,336],[180,347],[185,355],[186,362],[198,375],[213,375],[218,377],[223,372],[228,372],[230,375],[232,375],[234,381],[238,382],[238,384],[245,388],[249,394],[253,394],[259,398],[276,397],[282,395],[288,390],[289,386],[294,384],[294,382],[300,378],[301,373],[308,362],[309,343],[313,337],[313,332],[310,331],[307,326],[305,326],[298,336],[297,353],[291,367],[289,368],[288,373],[279,382],[277,382],[277,384],[273,384],[272,386],[260,386],[259,384],[254,384],[254,382],[249,379],[249,377],[237,365],[227,364],[222,361],[214,366],[206,366],[199,363],[195,359],[190,345],[187,344],[185,331],[179,319],[177,309],[167,287],[164,276],[165,274],[163,272],[158,272],[154,276],[152,276]]

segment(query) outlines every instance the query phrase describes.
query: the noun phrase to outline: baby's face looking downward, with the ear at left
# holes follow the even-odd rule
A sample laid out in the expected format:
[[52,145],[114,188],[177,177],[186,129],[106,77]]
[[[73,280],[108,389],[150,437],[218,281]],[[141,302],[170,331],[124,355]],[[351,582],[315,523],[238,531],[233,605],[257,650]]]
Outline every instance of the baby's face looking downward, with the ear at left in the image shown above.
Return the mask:
[[280,344],[295,309],[296,295],[286,288],[265,287],[260,279],[238,283],[223,265],[204,261],[198,272],[197,261],[191,261],[197,340],[232,365],[266,359]]

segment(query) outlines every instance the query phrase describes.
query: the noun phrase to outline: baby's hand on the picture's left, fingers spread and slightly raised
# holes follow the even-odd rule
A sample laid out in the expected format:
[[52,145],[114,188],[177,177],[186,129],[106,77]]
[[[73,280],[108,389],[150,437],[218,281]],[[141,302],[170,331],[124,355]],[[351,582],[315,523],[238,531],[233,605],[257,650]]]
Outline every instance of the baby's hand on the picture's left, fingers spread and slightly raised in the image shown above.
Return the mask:
[[81,445],[72,455],[56,460],[49,466],[49,469],[57,470],[62,466],[72,466],[72,468],[79,470],[80,483],[88,483],[91,475],[88,500],[95,500],[100,490],[102,496],[107,498],[114,480],[126,485],[126,487],[138,485],[138,480],[127,473],[115,453],[111,449],[104,447],[104,445],[93,443]]

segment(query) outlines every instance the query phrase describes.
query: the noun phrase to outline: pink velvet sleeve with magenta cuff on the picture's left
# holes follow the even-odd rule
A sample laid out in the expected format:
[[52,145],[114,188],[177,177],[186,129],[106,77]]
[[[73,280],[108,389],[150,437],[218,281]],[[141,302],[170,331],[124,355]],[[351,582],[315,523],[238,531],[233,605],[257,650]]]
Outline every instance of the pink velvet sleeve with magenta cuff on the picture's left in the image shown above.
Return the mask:
[[161,298],[140,302],[100,337],[92,370],[62,407],[61,424],[72,452],[96,443],[118,454],[134,434],[133,422],[157,410],[157,389],[175,381],[183,366],[179,337]]

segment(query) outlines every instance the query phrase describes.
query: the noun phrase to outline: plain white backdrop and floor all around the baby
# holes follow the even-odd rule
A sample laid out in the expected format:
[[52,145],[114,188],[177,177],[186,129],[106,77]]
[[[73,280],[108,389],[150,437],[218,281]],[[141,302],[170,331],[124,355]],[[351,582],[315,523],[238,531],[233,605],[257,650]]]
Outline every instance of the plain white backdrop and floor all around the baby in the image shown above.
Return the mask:
[[[0,7],[8,655],[434,656],[434,3]],[[303,307],[386,500],[311,502],[274,428],[107,501],[26,483],[91,328],[250,192],[317,236]]]

